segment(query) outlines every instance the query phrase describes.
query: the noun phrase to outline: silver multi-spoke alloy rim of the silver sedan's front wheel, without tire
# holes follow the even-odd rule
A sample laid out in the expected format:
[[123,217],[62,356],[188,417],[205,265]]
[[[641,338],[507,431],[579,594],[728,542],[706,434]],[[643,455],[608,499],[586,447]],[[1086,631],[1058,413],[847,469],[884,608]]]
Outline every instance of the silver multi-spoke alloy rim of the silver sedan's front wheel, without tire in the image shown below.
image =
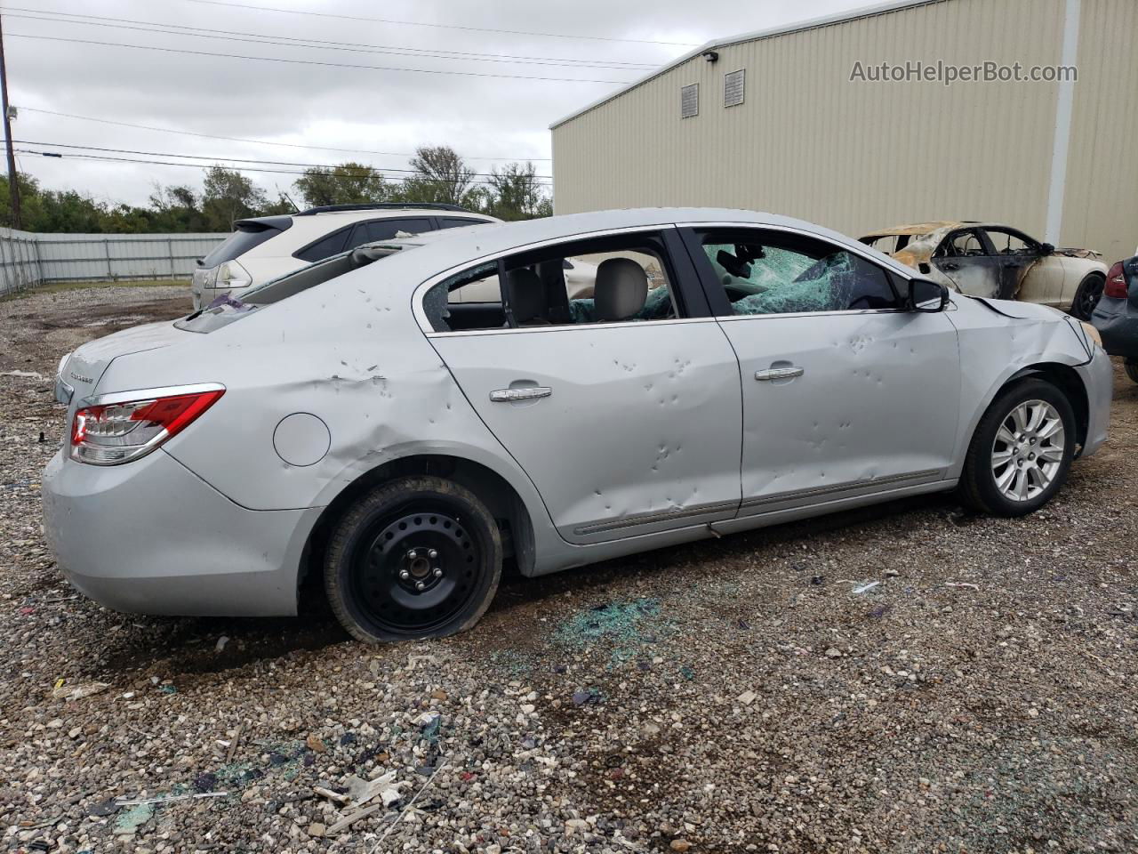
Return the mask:
[[992,443],[996,488],[1012,501],[1030,501],[1050,486],[1063,465],[1066,432],[1047,401],[1019,403],[1004,418]]

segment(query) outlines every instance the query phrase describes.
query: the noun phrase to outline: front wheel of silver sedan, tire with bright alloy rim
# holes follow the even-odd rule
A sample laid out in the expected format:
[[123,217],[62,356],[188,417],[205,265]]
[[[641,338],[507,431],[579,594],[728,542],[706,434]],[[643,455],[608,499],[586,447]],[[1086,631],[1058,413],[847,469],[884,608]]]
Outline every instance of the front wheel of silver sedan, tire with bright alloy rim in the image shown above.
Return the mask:
[[992,516],[1034,512],[1066,481],[1074,445],[1074,410],[1066,395],[1044,379],[1015,383],[996,396],[976,425],[960,496]]

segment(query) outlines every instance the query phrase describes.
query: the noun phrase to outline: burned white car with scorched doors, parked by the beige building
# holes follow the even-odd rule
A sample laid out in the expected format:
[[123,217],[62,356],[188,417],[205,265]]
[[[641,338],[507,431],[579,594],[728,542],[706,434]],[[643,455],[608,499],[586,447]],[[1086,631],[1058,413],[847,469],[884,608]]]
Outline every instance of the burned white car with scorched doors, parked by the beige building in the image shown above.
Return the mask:
[[1050,305],[1080,320],[1090,320],[1106,282],[1097,252],[1056,249],[999,223],[900,225],[861,243],[962,294]]

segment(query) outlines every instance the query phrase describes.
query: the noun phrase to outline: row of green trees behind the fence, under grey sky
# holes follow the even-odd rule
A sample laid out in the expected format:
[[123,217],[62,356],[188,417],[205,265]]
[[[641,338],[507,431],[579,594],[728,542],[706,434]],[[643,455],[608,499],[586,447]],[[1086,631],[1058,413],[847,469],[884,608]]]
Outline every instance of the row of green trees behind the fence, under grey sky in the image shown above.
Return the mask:
[[[49,190],[18,173],[22,225],[26,231],[93,233],[179,233],[232,231],[237,220],[292,213],[297,205],[374,202],[431,202],[460,205],[503,220],[549,216],[553,203],[533,163],[510,163],[479,176],[448,146],[423,146],[411,158],[406,178],[391,180],[362,163],[314,166],[292,183],[295,197],[277,198],[241,172],[216,165],[200,189],[155,184],[143,206],[108,203],[76,190]],[[0,176],[0,225],[10,228],[8,180]]]

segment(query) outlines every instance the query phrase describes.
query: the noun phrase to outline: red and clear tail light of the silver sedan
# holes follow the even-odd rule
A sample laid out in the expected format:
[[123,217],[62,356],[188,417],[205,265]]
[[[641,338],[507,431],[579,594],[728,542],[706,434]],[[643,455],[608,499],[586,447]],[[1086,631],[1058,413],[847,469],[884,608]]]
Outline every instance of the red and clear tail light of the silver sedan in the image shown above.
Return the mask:
[[224,393],[217,386],[190,386],[138,392],[138,396],[108,395],[75,411],[71,458],[96,466],[137,460],[185,429]]

